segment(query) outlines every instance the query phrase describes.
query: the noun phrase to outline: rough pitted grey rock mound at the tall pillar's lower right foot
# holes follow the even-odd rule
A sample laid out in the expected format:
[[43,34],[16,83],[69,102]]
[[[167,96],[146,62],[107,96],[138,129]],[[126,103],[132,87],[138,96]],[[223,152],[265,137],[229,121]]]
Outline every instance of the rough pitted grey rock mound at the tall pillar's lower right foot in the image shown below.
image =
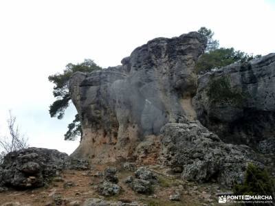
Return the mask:
[[262,165],[248,146],[225,144],[199,122],[171,123],[162,128],[162,157],[170,167],[181,166],[188,181],[212,179],[230,187],[243,181],[249,162]]

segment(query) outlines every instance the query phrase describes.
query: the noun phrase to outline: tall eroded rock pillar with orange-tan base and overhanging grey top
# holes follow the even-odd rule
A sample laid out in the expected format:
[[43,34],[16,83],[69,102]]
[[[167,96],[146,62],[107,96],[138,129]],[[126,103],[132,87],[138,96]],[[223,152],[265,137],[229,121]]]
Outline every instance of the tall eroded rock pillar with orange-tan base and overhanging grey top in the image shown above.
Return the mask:
[[137,144],[147,135],[159,135],[166,123],[192,119],[193,68],[205,47],[206,38],[197,32],[155,38],[121,66],[75,73],[69,89],[83,139],[73,156],[94,162],[131,157]]

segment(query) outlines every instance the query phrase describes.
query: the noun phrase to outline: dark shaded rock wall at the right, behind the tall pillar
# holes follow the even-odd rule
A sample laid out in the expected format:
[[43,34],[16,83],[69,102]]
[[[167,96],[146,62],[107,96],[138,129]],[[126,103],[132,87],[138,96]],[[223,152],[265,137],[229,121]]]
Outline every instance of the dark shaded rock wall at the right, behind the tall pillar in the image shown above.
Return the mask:
[[223,141],[256,148],[274,139],[275,54],[199,76],[193,104],[199,121]]

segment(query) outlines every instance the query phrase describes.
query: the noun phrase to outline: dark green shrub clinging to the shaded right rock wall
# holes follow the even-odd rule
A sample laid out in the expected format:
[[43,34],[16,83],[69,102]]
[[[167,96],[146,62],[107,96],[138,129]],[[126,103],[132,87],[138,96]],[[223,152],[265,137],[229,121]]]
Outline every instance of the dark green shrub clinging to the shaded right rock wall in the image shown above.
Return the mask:
[[228,76],[210,80],[207,95],[212,103],[243,106],[245,101],[245,95],[239,89],[230,87],[230,78]]

